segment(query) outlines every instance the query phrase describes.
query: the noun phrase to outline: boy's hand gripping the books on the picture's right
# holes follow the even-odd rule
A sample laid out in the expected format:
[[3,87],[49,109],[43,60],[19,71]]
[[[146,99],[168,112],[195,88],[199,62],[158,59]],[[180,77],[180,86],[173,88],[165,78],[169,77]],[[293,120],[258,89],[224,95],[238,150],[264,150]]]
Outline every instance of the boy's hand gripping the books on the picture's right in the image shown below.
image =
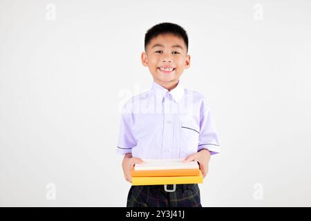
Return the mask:
[[202,172],[203,177],[207,175],[209,171],[209,159],[211,157],[211,153],[207,149],[202,149],[198,151],[198,153],[194,153],[185,158],[184,162],[197,161],[200,166],[200,170]]

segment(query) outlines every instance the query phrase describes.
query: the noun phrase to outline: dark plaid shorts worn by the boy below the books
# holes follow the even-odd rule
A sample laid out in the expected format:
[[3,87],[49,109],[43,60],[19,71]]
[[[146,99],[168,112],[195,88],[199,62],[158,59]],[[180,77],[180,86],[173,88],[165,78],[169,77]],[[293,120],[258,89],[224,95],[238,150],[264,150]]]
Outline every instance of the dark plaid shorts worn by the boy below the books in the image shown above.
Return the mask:
[[[173,189],[167,185],[167,189]],[[127,207],[202,207],[198,184],[176,184],[167,192],[164,185],[131,186]]]

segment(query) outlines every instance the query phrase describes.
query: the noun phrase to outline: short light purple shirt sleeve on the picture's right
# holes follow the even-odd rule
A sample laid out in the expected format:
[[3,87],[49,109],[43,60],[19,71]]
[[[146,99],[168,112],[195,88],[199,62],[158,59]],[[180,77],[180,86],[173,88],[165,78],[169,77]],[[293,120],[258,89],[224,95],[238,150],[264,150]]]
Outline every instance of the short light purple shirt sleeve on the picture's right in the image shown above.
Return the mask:
[[220,153],[220,144],[218,134],[211,116],[211,109],[204,101],[200,111],[200,135],[198,142],[198,151],[207,149],[211,155]]

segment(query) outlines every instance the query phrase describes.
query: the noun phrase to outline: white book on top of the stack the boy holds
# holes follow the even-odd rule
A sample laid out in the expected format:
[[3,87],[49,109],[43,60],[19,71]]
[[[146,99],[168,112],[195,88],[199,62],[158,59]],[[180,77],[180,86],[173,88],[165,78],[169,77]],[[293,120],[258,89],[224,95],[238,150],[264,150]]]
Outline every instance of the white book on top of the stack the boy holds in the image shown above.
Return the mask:
[[142,164],[135,164],[135,171],[155,171],[173,169],[199,169],[198,162],[191,161],[184,163],[184,159],[169,160],[144,160]]

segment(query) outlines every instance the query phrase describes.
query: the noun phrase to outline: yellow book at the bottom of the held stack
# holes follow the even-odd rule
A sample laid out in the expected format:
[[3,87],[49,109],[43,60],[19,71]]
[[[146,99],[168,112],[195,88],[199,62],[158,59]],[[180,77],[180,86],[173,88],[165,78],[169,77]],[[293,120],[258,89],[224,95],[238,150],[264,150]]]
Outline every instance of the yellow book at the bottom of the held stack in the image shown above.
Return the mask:
[[162,185],[162,184],[200,184],[203,182],[203,176],[176,176],[176,177],[132,177],[133,186],[142,185]]

